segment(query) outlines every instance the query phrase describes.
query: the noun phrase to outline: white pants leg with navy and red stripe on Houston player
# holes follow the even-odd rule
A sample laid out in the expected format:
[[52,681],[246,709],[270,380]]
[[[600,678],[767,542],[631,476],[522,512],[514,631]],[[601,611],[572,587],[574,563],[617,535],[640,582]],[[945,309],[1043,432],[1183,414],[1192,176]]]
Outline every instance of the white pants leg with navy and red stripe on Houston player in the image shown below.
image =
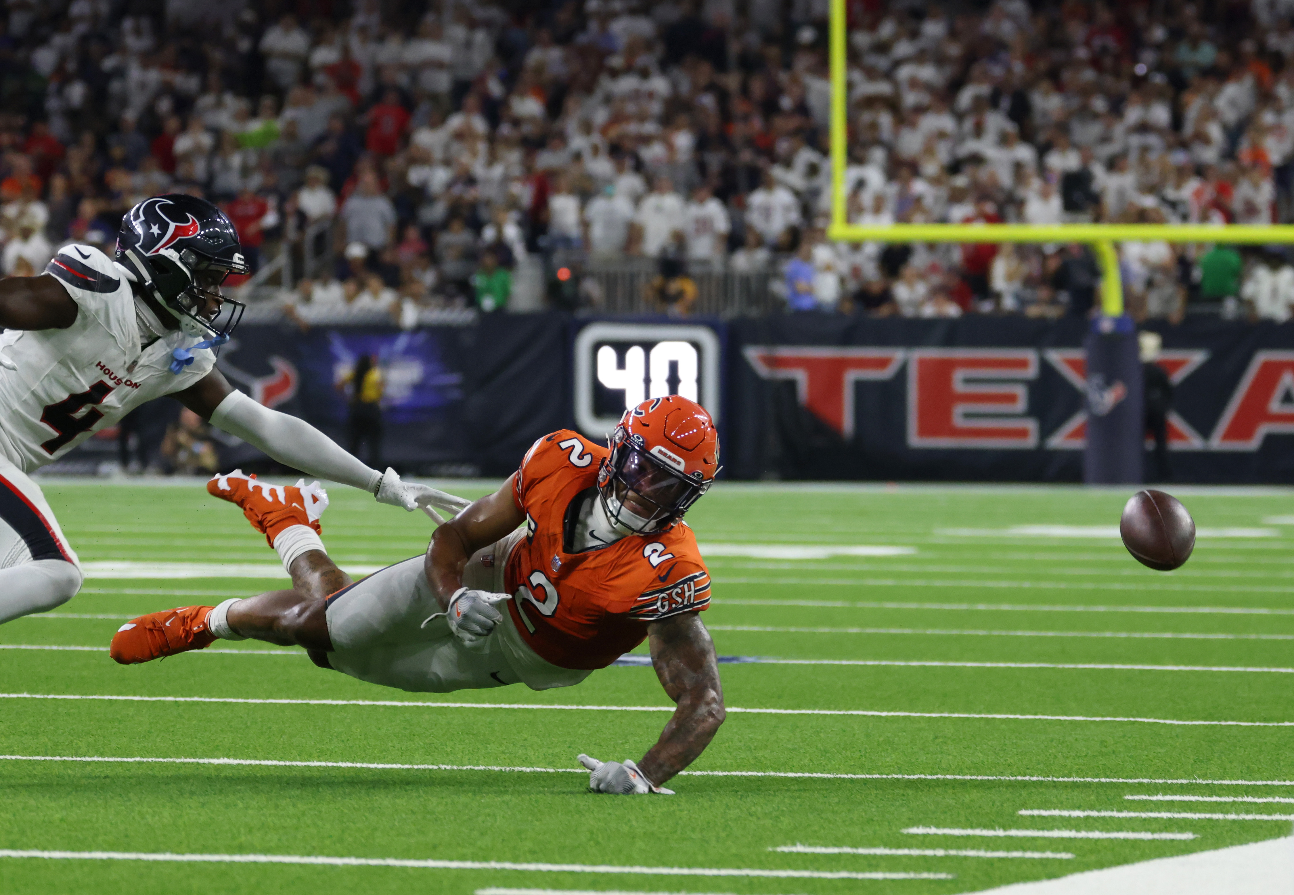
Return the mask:
[[80,560],[40,486],[0,455],[0,625],[60,607],[80,586]]

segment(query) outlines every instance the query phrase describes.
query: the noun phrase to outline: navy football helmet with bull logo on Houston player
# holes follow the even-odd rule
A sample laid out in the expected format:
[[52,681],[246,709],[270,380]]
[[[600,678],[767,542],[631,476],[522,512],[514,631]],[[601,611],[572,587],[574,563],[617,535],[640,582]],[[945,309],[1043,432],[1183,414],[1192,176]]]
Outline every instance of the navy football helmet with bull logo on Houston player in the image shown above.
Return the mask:
[[[172,193],[135,206],[122,217],[115,259],[186,335],[224,341],[242,319],[246,305],[220,285],[251,269],[234,225],[206,199]],[[204,299],[216,299],[214,313]]]

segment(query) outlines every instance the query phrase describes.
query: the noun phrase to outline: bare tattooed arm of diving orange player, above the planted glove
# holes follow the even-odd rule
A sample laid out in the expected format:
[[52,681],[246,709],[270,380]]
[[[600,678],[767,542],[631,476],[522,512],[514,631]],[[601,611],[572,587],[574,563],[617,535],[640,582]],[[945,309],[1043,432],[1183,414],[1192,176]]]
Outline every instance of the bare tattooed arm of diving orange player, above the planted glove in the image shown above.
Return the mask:
[[686,768],[723,723],[723,684],[714,658],[714,642],[695,612],[647,626],[651,662],[674,715],[638,768],[657,786]]

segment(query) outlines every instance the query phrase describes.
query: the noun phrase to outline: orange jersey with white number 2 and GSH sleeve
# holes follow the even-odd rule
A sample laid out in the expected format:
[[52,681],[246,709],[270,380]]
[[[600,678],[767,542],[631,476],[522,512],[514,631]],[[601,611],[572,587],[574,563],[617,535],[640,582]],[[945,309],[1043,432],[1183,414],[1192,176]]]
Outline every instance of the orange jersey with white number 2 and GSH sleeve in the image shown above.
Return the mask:
[[630,534],[568,552],[585,491],[607,450],[569,429],[534,442],[512,476],[525,539],[507,560],[509,612],[538,656],[564,669],[602,669],[647,638],[647,625],[710,601],[692,529]]

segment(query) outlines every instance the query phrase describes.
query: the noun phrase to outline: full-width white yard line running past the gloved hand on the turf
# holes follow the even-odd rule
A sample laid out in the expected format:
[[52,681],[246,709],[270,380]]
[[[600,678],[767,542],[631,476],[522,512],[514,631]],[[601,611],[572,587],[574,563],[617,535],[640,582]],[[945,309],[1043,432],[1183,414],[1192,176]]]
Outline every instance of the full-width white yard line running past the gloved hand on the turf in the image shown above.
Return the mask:
[[[110,755],[0,755],[4,762],[98,762],[110,764],[233,764],[252,767],[336,767],[373,771],[501,771],[509,773],[587,773],[584,768],[499,764],[392,764],[379,762],[292,762],[260,758],[145,758]],[[1043,777],[985,773],[823,773],[810,771],[679,771],[690,777],[795,777],[810,780],[967,780],[1003,782],[1192,784],[1206,786],[1294,786],[1294,780],[1200,780],[1178,777]]]

